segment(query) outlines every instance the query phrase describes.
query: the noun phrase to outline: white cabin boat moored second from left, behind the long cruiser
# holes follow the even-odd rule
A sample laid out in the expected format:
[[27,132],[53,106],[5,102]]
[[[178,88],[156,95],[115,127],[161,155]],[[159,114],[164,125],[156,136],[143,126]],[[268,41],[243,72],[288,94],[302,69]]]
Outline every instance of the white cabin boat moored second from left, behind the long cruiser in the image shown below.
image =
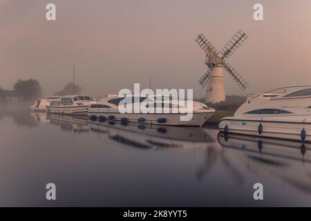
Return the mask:
[[46,111],[60,115],[88,115],[91,104],[96,102],[90,95],[66,95],[50,102]]

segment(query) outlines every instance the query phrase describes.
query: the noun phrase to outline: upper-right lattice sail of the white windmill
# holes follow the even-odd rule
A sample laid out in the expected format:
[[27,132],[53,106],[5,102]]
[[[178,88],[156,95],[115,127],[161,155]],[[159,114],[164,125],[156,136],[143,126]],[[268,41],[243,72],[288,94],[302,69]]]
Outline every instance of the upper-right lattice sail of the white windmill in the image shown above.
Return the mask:
[[234,37],[228,41],[225,47],[220,50],[220,53],[223,55],[221,59],[229,58],[246,39],[247,35],[242,30],[238,30],[236,35],[234,35]]

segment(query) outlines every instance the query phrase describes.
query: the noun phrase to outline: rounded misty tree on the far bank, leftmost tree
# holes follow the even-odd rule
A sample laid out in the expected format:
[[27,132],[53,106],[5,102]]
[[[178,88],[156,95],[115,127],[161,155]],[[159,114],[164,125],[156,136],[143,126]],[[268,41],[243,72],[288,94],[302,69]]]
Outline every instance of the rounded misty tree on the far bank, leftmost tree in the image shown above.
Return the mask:
[[17,95],[23,96],[26,101],[37,99],[42,95],[42,88],[37,79],[21,80],[14,84]]

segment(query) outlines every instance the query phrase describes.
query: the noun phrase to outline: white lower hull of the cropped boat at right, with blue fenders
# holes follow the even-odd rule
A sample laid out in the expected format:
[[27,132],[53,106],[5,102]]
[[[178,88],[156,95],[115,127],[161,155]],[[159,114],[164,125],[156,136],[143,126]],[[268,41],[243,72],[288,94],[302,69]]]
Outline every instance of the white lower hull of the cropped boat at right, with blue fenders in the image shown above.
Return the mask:
[[[226,128],[227,126],[227,128]],[[311,142],[311,119],[293,117],[225,117],[218,123],[223,133]]]

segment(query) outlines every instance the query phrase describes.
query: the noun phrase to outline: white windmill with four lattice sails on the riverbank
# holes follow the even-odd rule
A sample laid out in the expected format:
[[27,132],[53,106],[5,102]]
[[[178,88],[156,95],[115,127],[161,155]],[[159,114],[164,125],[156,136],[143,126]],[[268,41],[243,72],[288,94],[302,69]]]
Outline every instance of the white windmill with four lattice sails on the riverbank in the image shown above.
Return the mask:
[[242,90],[248,86],[245,79],[243,79],[243,77],[225,61],[225,59],[229,58],[246,39],[247,35],[242,30],[238,30],[236,35],[228,41],[219,53],[211,42],[202,35],[202,33],[196,37],[196,43],[198,43],[200,48],[202,48],[206,54],[205,64],[208,67],[207,72],[199,79],[202,88],[207,86],[205,102],[214,104],[225,101],[226,95],[225,86],[223,84],[223,68],[227,70],[227,73],[234,79],[234,81],[236,81],[236,84],[238,84]]

